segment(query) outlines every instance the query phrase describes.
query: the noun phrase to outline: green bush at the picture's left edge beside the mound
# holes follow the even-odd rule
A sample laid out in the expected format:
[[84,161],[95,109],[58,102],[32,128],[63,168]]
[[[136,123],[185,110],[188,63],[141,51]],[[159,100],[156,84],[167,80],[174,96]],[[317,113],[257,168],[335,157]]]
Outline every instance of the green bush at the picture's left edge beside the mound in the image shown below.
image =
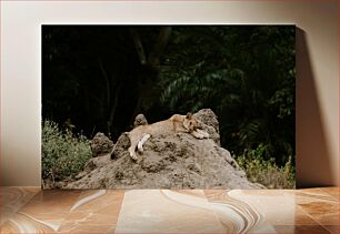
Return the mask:
[[42,122],[41,138],[43,180],[56,182],[76,175],[91,157],[86,136],[76,138],[70,130],[62,132],[52,121]]

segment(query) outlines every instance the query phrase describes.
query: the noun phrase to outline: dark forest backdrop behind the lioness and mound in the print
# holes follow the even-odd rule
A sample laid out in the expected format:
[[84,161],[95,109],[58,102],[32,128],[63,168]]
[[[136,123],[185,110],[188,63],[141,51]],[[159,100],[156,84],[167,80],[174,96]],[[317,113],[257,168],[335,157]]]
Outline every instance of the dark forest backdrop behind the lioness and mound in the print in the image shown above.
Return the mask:
[[210,108],[233,155],[294,159],[292,26],[42,26],[42,119],[113,141]]

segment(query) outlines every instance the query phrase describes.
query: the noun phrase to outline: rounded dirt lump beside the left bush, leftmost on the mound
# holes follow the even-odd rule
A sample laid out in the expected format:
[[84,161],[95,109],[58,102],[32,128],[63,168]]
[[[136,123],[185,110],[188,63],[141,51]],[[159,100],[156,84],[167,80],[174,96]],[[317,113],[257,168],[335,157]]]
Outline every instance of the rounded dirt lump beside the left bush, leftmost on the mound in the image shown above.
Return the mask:
[[98,132],[90,143],[92,156],[97,157],[111,153],[113,145],[113,142],[108,136]]

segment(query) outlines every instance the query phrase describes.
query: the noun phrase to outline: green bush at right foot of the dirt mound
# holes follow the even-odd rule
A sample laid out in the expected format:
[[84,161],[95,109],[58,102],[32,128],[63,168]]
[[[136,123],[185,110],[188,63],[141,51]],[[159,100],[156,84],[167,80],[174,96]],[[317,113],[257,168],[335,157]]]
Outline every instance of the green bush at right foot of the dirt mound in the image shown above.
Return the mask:
[[283,166],[278,166],[274,159],[264,160],[266,146],[260,144],[256,150],[234,156],[246,171],[249,181],[263,184],[268,189],[294,189],[296,173],[292,157],[289,156]]

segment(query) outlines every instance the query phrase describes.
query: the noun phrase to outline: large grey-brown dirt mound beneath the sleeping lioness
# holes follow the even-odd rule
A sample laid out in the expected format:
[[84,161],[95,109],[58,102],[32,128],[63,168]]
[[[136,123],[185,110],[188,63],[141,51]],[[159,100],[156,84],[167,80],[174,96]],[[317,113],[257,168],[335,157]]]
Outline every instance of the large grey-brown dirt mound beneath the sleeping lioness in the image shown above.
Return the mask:
[[152,135],[137,161],[130,157],[130,141],[122,134],[111,156],[102,157],[100,163],[92,159],[92,171],[88,164],[79,180],[66,189],[263,189],[249,182],[230,153],[219,146],[218,121],[212,114],[211,110],[194,114],[212,138],[198,140],[188,133]]

